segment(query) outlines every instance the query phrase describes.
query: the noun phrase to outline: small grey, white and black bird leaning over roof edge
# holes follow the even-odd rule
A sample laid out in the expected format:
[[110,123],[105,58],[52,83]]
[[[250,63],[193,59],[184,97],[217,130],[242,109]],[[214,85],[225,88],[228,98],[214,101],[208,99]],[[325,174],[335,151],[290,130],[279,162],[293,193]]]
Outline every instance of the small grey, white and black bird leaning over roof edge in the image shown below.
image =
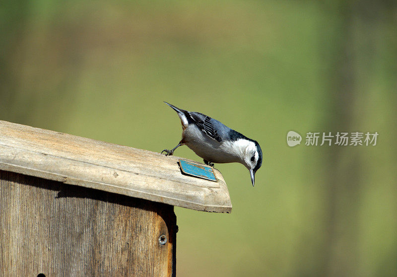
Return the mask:
[[221,122],[202,113],[179,109],[164,101],[174,109],[182,124],[182,139],[173,149],[164,149],[160,154],[173,155],[176,148],[187,145],[204,163],[239,162],[248,168],[252,185],[255,186],[255,173],[262,166],[262,149],[258,141],[247,138]]

